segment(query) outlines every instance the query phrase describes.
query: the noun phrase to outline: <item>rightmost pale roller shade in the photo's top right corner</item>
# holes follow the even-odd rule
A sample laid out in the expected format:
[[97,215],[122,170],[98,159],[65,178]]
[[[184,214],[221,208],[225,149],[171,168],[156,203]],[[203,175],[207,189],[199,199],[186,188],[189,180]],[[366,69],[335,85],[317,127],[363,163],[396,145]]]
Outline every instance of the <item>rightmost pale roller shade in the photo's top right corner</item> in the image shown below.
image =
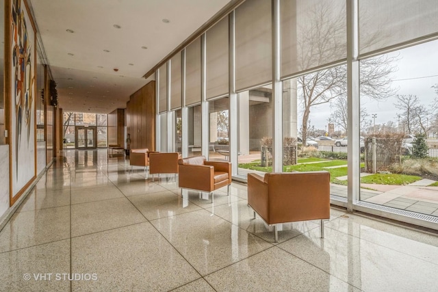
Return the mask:
[[359,1],[359,52],[436,34],[437,15],[436,0]]

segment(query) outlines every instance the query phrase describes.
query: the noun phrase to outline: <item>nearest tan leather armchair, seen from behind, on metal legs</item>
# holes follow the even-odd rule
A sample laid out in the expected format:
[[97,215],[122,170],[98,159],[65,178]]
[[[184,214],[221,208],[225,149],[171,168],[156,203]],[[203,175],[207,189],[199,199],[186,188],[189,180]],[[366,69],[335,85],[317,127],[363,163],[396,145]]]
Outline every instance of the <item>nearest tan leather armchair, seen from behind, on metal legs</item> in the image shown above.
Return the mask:
[[287,172],[265,176],[248,174],[248,205],[268,225],[274,225],[275,242],[278,242],[276,224],[305,220],[321,220],[321,237],[324,237],[322,220],[330,218],[330,173]]

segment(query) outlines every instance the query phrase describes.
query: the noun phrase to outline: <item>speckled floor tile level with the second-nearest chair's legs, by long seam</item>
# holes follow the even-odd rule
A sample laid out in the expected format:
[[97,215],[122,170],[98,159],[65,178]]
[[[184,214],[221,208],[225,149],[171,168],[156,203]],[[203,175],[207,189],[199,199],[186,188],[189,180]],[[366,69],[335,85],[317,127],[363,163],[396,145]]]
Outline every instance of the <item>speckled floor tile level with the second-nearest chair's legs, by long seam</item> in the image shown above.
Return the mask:
[[114,185],[102,185],[100,187],[80,187],[71,190],[71,203],[94,202],[114,198],[125,197]]

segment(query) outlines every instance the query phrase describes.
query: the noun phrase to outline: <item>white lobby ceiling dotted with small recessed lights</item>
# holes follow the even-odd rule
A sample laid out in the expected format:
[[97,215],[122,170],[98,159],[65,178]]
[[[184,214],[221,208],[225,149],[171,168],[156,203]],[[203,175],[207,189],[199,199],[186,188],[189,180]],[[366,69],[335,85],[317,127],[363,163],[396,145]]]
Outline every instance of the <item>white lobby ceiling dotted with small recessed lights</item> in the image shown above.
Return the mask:
[[146,72],[232,1],[30,0],[60,107],[99,114],[125,108],[129,95],[153,80],[142,78]]

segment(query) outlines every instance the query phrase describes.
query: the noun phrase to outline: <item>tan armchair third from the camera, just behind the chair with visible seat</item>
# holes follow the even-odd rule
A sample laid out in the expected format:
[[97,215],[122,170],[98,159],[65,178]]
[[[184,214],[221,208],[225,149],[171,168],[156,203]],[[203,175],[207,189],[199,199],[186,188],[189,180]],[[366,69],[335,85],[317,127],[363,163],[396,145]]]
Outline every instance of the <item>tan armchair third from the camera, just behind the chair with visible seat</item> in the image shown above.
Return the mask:
[[150,152],[149,153],[149,174],[155,180],[155,174],[176,174],[178,173],[178,159],[181,158],[178,152]]

